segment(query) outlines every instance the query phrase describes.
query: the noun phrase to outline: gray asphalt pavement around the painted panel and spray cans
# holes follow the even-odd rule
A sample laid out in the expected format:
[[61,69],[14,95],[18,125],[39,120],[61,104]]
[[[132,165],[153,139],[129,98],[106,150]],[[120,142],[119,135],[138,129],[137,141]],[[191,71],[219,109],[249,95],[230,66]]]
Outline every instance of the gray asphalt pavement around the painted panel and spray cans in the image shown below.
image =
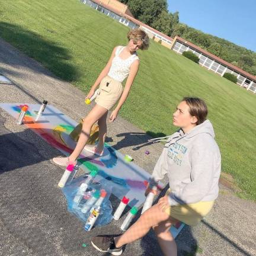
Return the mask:
[[[36,103],[48,100],[78,121],[89,107],[85,94],[24,56],[0,39],[0,74],[13,84],[0,84],[1,103]],[[107,142],[132,155],[140,167],[152,172],[162,144],[143,146],[145,132],[118,117],[108,125]],[[66,210],[57,188],[63,169],[51,158],[60,152],[39,136],[18,126],[0,110],[0,255],[103,255],[89,244],[91,236],[119,233],[118,222],[84,232],[82,223]],[[145,151],[151,153],[145,155]],[[115,206],[113,206],[115,208]],[[200,225],[186,226],[177,237],[178,255],[256,255],[256,204],[236,197],[220,185],[212,212]],[[197,249],[196,249],[197,248]],[[127,245],[123,255],[162,255],[153,232]]]

